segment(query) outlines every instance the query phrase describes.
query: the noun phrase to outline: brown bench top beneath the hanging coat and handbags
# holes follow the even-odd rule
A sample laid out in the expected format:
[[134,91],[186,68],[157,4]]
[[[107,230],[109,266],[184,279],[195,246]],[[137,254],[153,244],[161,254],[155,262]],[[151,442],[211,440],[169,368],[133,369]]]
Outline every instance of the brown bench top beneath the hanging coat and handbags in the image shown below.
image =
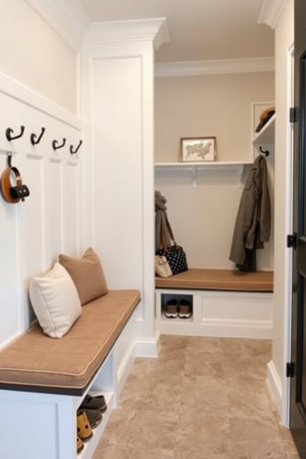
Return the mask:
[[155,286],[165,289],[272,292],[273,272],[194,268],[171,277],[156,276]]

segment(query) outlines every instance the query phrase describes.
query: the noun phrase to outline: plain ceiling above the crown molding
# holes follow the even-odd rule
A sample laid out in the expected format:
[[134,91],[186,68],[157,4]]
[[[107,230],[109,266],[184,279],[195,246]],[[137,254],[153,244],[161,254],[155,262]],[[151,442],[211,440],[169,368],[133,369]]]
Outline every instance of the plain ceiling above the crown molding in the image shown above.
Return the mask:
[[274,56],[274,33],[257,19],[263,0],[79,0],[91,22],[167,18],[170,42],[156,62]]

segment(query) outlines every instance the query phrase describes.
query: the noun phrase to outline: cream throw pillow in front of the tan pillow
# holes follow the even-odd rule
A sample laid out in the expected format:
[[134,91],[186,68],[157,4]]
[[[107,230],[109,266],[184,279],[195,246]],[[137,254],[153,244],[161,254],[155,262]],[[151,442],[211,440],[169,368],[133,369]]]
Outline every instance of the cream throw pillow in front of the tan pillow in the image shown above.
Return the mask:
[[60,263],[43,277],[33,278],[29,295],[39,325],[52,338],[64,336],[81,315],[77,289]]

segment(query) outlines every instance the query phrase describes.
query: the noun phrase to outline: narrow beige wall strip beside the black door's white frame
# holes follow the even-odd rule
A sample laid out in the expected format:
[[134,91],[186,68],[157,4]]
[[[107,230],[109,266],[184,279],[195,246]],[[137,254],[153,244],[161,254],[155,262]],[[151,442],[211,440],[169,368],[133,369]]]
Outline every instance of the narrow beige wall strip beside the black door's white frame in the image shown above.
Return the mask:
[[294,42],[294,1],[288,0],[275,29],[276,62],[276,130],[275,130],[275,254],[274,254],[274,314],[273,314],[273,364],[279,377],[284,376],[284,310],[288,298],[285,272],[286,258],[286,202],[287,173],[287,129],[288,108],[287,93],[287,56]]

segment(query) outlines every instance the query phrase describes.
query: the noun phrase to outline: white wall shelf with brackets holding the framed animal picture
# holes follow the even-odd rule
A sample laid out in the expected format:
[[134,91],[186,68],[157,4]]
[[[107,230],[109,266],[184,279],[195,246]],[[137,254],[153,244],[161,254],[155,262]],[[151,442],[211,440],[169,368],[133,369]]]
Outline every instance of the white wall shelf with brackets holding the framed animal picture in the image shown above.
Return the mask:
[[242,186],[242,179],[245,166],[252,164],[252,161],[213,161],[213,162],[156,162],[155,172],[178,172],[190,171],[193,177],[193,187],[196,186],[196,173],[198,170],[212,169],[236,169],[238,186]]

